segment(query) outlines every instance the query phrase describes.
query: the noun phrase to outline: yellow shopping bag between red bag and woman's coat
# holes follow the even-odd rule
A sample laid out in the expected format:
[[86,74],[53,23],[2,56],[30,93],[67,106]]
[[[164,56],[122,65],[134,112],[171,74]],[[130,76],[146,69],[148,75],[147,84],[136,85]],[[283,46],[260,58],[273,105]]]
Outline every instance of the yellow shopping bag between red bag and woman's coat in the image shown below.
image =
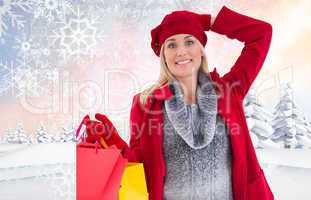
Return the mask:
[[148,200],[144,166],[142,163],[128,163],[121,181],[119,200]]

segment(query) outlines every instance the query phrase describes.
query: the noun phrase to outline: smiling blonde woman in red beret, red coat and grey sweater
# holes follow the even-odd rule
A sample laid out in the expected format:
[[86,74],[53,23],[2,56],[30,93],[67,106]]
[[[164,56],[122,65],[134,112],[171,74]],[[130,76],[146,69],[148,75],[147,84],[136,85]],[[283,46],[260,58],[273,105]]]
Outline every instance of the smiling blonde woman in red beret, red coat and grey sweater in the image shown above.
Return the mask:
[[[245,44],[223,77],[208,71],[209,30]],[[151,36],[159,81],[133,98],[130,144],[106,137],[129,161],[144,163],[150,199],[274,199],[242,105],[268,52],[271,25],[223,6],[215,19],[172,12]]]

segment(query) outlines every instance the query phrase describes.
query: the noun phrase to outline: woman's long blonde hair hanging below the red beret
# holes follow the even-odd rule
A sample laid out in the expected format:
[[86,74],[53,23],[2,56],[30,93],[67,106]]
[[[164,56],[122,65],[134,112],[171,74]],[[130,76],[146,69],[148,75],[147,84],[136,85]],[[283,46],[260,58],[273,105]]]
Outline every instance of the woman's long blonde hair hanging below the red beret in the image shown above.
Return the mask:
[[[203,45],[198,42],[198,44],[201,47],[202,50],[202,61],[199,70],[202,72],[206,73],[209,76],[209,71],[208,71],[208,64],[207,64],[207,58],[205,54],[205,49]],[[142,105],[145,105],[147,102],[147,98],[153,93],[154,90],[157,88],[164,86],[168,84],[172,79],[174,78],[173,74],[169,71],[166,62],[165,62],[165,57],[164,57],[164,45],[161,46],[160,50],[160,75],[157,80],[157,82],[147,89],[143,90],[140,94],[139,101]]]

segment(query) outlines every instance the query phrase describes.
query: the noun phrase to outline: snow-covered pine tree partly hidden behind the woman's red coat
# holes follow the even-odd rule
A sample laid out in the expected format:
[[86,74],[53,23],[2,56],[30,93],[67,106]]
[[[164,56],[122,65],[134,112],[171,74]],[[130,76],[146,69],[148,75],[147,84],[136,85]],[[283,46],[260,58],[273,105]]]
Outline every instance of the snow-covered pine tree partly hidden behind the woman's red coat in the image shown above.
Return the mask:
[[272,113],[265,109],[256,99],[256,91],[251,88],[244,101],[247,126],[255,148],[278,147],[270,137],[273,128],[270,125]]

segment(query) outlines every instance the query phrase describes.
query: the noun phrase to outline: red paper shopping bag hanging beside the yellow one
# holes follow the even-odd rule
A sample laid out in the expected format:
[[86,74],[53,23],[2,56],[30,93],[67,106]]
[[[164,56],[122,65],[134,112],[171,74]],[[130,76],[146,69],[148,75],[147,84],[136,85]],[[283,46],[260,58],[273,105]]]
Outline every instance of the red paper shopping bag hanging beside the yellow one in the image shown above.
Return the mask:
[[[82,122],[83,123],[83,122]],[[81,128],[77,130],[77,137]],[[99,139],[100,140],[100,139]],[[95,144],[77,144],[77,200],[116,200],[127,160],[116,146],[101,148]]]

